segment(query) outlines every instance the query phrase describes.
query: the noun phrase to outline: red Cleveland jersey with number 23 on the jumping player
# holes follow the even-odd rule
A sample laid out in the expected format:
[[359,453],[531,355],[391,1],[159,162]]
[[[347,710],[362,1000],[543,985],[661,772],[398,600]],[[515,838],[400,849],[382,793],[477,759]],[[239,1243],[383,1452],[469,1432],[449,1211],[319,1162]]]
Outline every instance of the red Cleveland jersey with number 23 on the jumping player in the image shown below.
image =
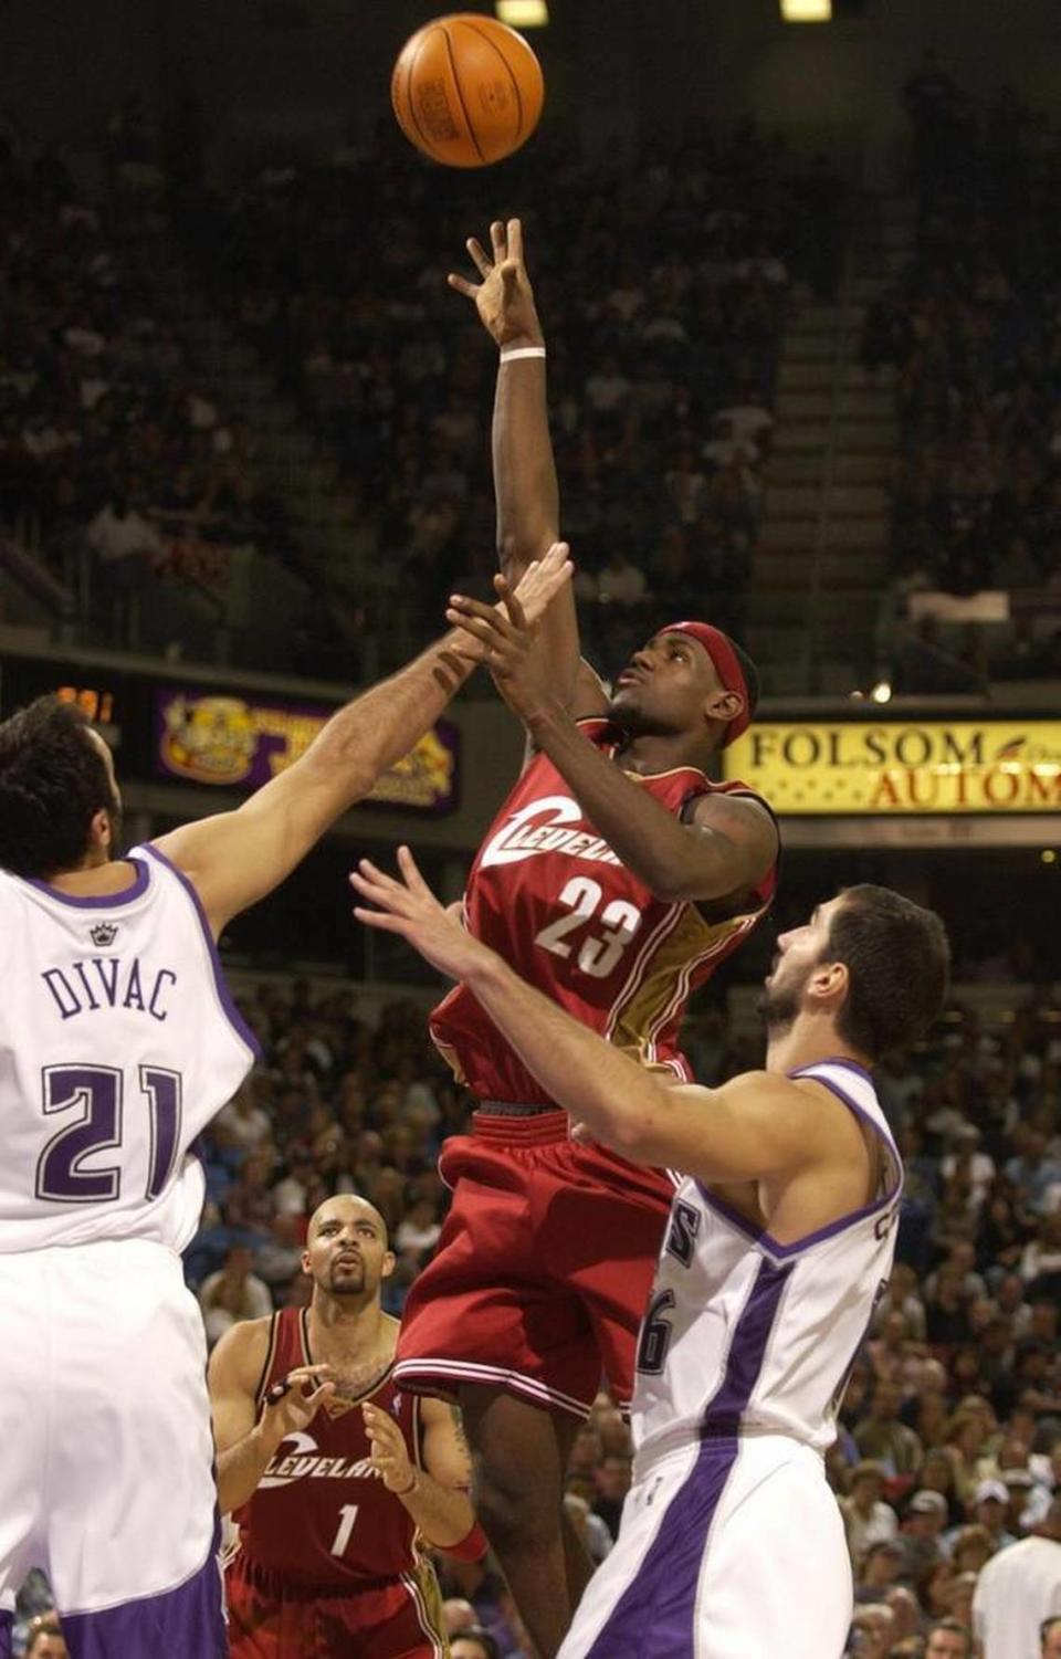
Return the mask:
[[[615,727],[600,718],[580,727],[605,755],[615,755]],[[744,783],[711,783],[696,766],[627,776],[675,816],[700,795],[761,800]],[[656,899],[597,834],[552,761],[535,755],[479,848],[464,919],[582,1025],[643,1065],[688,1078],[678,1052],[686,1004],[756,926],[776,884],[774,864],[748,907],[724,921],[710,921],[685,899]],[[431,1035],[479,1098],[549,1103],[464,985],[434,1009]]]

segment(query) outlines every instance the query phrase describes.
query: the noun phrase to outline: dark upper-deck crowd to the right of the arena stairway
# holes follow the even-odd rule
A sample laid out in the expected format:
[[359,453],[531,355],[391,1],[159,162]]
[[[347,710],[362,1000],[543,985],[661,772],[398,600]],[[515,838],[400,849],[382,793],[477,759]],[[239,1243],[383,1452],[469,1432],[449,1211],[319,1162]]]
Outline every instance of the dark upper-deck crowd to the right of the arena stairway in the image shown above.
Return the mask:
[[[1013,86],[978,105],[935,53],[905,105],[913,257],[862,333],[862,362],[894,382],[900,425],[892,571],[904,596],[1000,591],[1013,611],[1008,630],[971,625],[948,640],[965,684],[940,662],[917,688],[1051,677],[1061,627],[1036,629],[1028,601],[1041,607],[1051,589],[1061,602],[1061,154]],[[940,639],[932,622],[922,632],[927,647]],[[925,650],[920,682],[928,669]]]

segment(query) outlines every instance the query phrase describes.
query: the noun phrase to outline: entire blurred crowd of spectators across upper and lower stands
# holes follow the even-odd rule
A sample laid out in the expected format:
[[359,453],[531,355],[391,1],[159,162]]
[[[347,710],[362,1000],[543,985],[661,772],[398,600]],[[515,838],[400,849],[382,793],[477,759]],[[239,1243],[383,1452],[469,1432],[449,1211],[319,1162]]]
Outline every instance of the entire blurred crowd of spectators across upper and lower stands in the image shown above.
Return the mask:
[[[1056,675],[1061,632],[1020,609],[1061,589],[1056,144],[1016,93],[978,108],[932,55],[905,103],[915,257],[862,333],[902,433],[894,582],[1015,599],[998,649],[965,629],[945,664],[925,624],[922,674],[932,659],[968,687]],[[504,191],[549,337],[589,654],[613,665],[685,611],[739,635],[784,330],[842,280],[841,174],[753,124],[698,126],[637,171],[542,143]],[[486,589],[494,352],[444,280],[486,231],[477,211],[464,178],[390,138],[222,187],[194,105],[159,121],[129,100],[93,182],[8,131],[0,516],[73,596],[83,639],[209,657],[220,622],[239,664],[351,679],[433,630],[448,589]],[[779,916],[789,902],[782,891]],[[962,977],[1056,977],[1043,917],[1041,951],[1001,927],[985,949],[981,911],[955,921]],[[441,1141],[472,1110],[428,1045],[423,1002],[371,1024],[356,990],[277,975],[247,984],[244,1012],[264,1060],[207,1136],[187,1256],[211,1342],[307,1299],[307,1221],[342,1191],[388,1221],[385,1306],[400,1314],[444,1216]],[[705,1083],[758,1060],[723,1000],[686,1035]],[[996,1022],[952,1009],[887,1062],[880,1093],[907,1160],[897,1267],[829,1457],[855,1571],[850,1651],[968,1659],[985,1568],[1061,1495],[1056,997]],[[567,1495],[597,1559],[628,1480],[628,1432],[602,1395]],[[461,1659],[532,1659],[489,1563],[441,1573],[451,1629],[487,1632]],[[33,1581],[18,1639],[58,1659],[45,1608]],[[950,1646],[933,1649],[938,1629]]]

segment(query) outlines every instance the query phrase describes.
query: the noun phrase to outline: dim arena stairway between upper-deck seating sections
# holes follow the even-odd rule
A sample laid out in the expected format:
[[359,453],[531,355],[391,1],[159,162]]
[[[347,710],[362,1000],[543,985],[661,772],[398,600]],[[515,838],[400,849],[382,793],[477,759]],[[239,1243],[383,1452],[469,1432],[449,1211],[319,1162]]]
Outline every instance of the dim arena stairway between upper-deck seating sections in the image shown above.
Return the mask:
[[836,304],[794,297],[749,589],[749,647],[773,695],[847,693],[874,662],[899,426],[892,380],[869,377],[859,348],[912,242],[908,199],[864,199]]

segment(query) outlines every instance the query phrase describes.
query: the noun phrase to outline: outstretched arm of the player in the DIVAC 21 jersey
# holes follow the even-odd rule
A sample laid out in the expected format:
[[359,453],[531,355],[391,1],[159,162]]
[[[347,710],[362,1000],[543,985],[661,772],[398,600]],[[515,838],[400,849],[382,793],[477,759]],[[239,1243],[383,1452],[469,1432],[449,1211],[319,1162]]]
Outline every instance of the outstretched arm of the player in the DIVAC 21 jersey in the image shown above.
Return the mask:
[[[524,594],[540,615],[569,587],[567,547],[527,569]],[[305,755],[234,813],[217,813],[157,839],[194,883],[207,921],[220,929],[283,881],[322,834],[431,728],[482,659],[451,630],[421,657],[356,697],[328,720]]]

